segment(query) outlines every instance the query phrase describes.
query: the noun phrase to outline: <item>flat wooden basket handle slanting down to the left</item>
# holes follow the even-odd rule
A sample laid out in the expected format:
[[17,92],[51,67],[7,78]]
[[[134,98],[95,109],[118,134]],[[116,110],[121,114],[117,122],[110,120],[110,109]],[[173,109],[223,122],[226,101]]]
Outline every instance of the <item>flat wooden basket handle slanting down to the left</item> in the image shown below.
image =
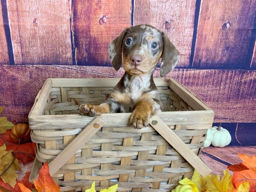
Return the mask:
[[91,121],[83,131],[81,131],[73,141],[71,141],[67,147],[65,147],[61,153],[59,153],[50,163],[49,163],[49,173],[54,175],[90,138],[95,135],[100,128],[104,125],[104,122],[96,117]]

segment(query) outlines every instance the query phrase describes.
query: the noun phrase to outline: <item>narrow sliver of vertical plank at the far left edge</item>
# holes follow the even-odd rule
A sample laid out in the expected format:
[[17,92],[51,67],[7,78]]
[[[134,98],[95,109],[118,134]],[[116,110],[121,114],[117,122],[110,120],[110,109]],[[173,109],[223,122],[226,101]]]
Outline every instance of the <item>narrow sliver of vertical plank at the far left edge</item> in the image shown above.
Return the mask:
[[0,1],[0,64],[9,64],[8,48],[6,41],[6,33],[3,23],[2,1]]

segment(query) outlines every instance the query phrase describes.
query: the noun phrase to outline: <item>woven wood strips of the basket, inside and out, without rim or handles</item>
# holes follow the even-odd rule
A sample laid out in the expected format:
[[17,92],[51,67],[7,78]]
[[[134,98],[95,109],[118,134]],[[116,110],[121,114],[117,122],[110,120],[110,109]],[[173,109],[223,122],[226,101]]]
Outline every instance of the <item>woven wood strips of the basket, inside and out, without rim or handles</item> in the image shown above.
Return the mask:
[[[112,88],[52,87],[43,114],[78,114],[79,104],[99,105],[108,98]],[[164,111],[193,111],[170,87],[159,86],[158,89]],[[168,127],[195,154],[200,154],[206,139],[206,125],[188,122]],[[32,141],[38,143],[37,160],[41,163],[53,160],[82,129],[52,125],[47,129],[32,130]],[[103,126],[53,177],[61,185],[61,191],[84,191],[95,180],[98,190],[117,182],[119,191],[167,192],[177,186],[178,180],[191,177],[193,170],[151,126],[141,130]]]

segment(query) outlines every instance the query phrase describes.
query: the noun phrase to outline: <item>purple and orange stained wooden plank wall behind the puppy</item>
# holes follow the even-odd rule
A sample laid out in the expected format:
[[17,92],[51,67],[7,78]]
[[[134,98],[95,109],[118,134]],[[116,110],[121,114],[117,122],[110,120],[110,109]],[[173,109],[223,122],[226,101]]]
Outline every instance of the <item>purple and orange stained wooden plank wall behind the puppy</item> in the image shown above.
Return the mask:
[[205,101],[215,122],[256,121],[255,0],[1,0],[0,8],[0,106],[10,120],[27,120],[47,78],[122,76],[107,67],[108,43],[147,23],[180,51],[168,76]]

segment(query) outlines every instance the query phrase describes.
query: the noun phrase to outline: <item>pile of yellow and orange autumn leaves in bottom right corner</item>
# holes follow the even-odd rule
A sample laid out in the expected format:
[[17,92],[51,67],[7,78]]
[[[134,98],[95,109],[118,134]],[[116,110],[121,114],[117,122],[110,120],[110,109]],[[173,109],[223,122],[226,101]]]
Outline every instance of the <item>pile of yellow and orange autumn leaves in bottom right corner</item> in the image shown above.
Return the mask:
[[256,192],[256,155],[238,155],[243,162],[228,166],[233,175],[229,174],[229,170],[224,170],[222,177],[211,174],[202,177],[195,170],[191,180],[186,177],[180,180],[181,185],[172,192]]

